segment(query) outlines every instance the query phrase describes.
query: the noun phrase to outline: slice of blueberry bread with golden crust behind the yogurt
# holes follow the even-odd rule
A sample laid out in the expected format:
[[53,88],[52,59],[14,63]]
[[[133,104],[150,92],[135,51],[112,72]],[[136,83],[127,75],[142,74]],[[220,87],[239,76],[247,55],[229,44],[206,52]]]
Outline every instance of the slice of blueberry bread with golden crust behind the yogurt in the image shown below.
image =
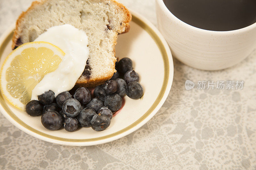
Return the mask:
[[71,24],[84,30],[90,52],[76,86],[92,87],[113,76],[117,34],[129,31],[131,19],[127,8],[115,0],[35,1],[17,20],[12,48],[34,41],[52,26]]

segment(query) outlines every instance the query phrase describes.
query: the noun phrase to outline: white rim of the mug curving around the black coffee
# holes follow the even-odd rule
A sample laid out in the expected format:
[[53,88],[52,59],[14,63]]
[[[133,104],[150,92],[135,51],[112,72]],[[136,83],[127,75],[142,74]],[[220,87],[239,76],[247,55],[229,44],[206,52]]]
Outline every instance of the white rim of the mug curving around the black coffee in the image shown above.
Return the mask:
[[256,28],[256,22],[253,23],[250,26],[246,26],[244,28],[240,28],[240,29],[236,29],[236,30],[230,30],[230,31],[212,31],[212,30],[205,30],[202,28],[197,28],[195,26],[191,26],[187,23],[185,23],[184,21],[180,20],[179,18],[177,18],[175,15],[172,14],[171,11],[169,11],[169,9],[166,7],[166,5],[164,4],[163,0],[156,0],[159,4],[159,6],[161,6],[162,11],[169,17],[169,18],[173,18],[175,20],[177,20],[181,25],[188,27],[190,29],[193,29],[195,31],[200,31],[200,32],[204,32],[204,33],[212,33],[212,34],[235,34],[235,33],[244,33],[246,31],[250,31],[253,28]]

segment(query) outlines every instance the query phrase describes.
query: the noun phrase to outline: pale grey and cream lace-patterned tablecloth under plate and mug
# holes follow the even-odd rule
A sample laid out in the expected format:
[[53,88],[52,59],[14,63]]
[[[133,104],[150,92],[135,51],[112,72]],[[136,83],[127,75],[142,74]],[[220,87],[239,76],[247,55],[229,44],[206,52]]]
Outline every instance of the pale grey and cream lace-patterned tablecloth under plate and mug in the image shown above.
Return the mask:
[[[0,0],[0,35],[31,2]],[[154,0],[120,2],[156,25]],[[44,142],[0,114],[0,169],[256,169],[255,78],[255,50],[221,71],[196,70],[174,59],[172,89],[157,114],[126,137],[89,147]],[[186,80],[194,89],[185,89]],[[207,90],[208,81],[213,90]],[[216,88],[218,81],[224,89]],[[244,81],[242,90],[236,81]]]

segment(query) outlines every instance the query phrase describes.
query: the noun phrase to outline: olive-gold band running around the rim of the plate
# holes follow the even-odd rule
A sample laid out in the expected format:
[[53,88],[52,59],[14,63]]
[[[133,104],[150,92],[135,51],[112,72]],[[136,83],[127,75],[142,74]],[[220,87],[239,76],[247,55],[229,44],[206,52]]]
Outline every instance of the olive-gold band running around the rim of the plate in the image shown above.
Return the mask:
[[[23,126],[24,128],[38,134],[41,135],[43,137],[47,137],[50,139],[54,139],[54,140],[58,140],[58,141],[63,141],[63,142],[93,142],[93,141],[98,141],[98,140],[102,140],[102,139],[107,139],[110,137],[115,137],[129,129],[132,129],[133,127],[135,127],[136,125],[138,125],[140,122],[142,122],[144,119],[146,119],[148,117],[148,115],[150,115],[153,110],[157,107],[157,105],[160,103],[161,99],[164,96],[164,92],[167,88],[168,85],[168,81],[169,81],[169,71],[170,71],[170,67],[169,67],[169,59],[168,59],[168,55],[167,52],[165,50],[164,44],[163,42],[160,40],[160,38],[158,37],[158,35],[153,31],[153,29],[148,26],[146,23],[144,23],[140,18],[137,18],[136,16],[132,16],[132,21],[135,22],[136,24],[138,24],[140,27],[142,27],[144,30],[146,30],[148,32],[148,34],[154,39],[154,41],[156,42],[156,44],[158,45],[158,48],[161,51],[163,60],[164,60],[164,81],[163,81],[163,85],[162,88],[160,90],[159,95],[157,96],[155,102],[153,103],[153,105],[148,109],[148,111],[142,115],[136,122],[132,123],[131,125],[127,126],[126,128],[119,130],[115,133],[106,135],[106,136],[102,136],[102,137],[96,137],[96,138],[90,138],[90,139],[68,139],[68,138],[62,138],[62,137],[55,137],[52,135],[48,135],[46,133],[43,133],[39,130],[36,130],[30,126],[28,126],[26,123],[24,123],[23,121],[21,121],[11,110],[10,108],[7,106],[6,101],[3,98],[2,93],[0,92],[0,103],[3,106],[4,110],[6,111],[6,113],[13,119],[15,120],[17,123],[19,123],[21,126]],[[6,39],[4,40],[4,42],[1,44],[0,47],[0,57],[2,57],[2,54],[4,52],[4,49],[6,48],[8,42],[11,41],[13,36],[13,32],[10,33]]]

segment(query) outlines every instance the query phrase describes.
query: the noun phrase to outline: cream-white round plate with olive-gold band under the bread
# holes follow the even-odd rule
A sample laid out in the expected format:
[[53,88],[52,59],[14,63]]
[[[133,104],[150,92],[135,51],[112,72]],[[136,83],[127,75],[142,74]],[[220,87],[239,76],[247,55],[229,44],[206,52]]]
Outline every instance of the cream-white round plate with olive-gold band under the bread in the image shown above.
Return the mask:
[[[0,65],[12,51],[11,39],[14,26],[0,38]],[[79,128],[67,132],[64,128],[47,130],[41,124],[41,116],[32,117],[10,105],[0,93],[0,111],[16,127],[29,135],[44,141],[71,145],[88,146],[107,143],[124,137],[148,122],[166,100],[173,79],[171,51],[154,25],[139,14],[132,12],[131,30],[118,35],[116,56],[130,57],[133,67],[140,75],[144,88],[142,99],[124,97],[122,110],[115,114],[110,126],[101,132],[92,128]]]

